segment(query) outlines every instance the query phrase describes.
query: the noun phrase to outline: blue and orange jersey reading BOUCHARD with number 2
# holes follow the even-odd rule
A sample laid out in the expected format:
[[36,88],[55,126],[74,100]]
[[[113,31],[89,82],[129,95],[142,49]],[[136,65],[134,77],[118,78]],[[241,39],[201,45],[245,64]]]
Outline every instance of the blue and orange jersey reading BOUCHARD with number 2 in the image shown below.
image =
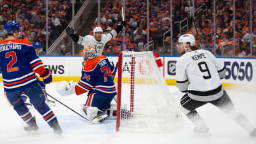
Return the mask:
[[41,59],[30,41],[12,39],[0,41],[0,68],[6,92],[14,92],[37,83],[36,73],[46,73]]

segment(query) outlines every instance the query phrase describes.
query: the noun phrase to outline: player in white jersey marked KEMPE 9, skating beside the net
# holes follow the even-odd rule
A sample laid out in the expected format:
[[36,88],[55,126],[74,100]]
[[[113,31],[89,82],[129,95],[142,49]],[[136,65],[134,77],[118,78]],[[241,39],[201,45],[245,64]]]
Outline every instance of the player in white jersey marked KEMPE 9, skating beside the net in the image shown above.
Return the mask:
[[226,115],[234,119],[251,137],[256,137],[256,129],[251,122],[234,108],[230,97],[223,89],[220,79],[225,78],[225,66],[207,50],[198,49],[192,34],[183,34],[178,39],[178,50],[183,54],[177,60],[177,87],[185,92],[180,100],[181,110],[196,127],[198,135],[208,135],[209,128],[196,111],[206,103],[212,103]]

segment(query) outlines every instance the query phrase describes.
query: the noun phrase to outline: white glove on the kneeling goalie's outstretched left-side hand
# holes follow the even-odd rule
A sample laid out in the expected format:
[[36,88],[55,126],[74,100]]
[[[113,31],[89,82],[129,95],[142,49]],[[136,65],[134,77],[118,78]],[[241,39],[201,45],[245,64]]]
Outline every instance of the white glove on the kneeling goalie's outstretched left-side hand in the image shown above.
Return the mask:
[[61,81],[57,84],[57,92],[59,95],[68,96],[76,94],[75,84],[73,81]]

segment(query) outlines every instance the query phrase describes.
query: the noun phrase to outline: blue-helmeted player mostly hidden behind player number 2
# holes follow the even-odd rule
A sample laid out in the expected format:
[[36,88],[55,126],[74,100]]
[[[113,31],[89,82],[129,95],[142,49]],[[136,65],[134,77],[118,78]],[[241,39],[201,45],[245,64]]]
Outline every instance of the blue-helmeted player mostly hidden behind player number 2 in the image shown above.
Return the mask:
[[[33,42],[33,47],[34,50],[36,50],[36,55],[39,55],[42,52],[42,44],[39,42]],[[38,79],[38,83],[40,84],[40,86],[42,87],[42,91],[45,93],[46,92],[46,84],[44,84],[44,82],[40,81],[39,78]],[[46,103],[49,106],[55,106],[55,102],[53,100],[49,100],[46,96]],[[22,92],[22,100],[25,102],[25,105],[28,106],[28,108],[32,108],[32,105],[30,102],[28,102],[28,96],[26,96],[25,92]]]

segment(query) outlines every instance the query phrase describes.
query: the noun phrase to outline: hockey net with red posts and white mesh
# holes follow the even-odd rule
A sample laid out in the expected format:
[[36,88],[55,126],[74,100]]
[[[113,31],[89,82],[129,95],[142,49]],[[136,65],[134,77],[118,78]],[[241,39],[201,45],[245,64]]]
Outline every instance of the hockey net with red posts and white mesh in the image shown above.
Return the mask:
[[164,132],[180,126],[180,111],[153,52],[120,52],[118,61],[116,130]]

